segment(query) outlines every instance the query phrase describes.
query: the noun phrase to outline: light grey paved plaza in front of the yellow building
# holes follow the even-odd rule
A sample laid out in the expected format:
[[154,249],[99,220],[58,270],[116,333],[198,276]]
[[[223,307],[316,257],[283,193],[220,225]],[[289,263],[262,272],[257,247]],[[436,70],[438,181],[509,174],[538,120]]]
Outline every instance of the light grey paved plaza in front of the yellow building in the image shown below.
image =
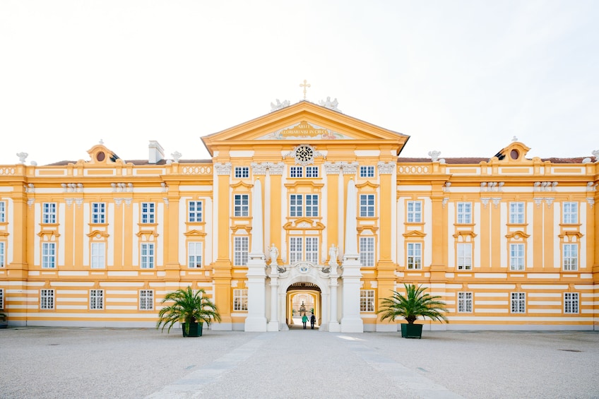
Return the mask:
[[7,328],[0,398],[599,398],[599,332]]

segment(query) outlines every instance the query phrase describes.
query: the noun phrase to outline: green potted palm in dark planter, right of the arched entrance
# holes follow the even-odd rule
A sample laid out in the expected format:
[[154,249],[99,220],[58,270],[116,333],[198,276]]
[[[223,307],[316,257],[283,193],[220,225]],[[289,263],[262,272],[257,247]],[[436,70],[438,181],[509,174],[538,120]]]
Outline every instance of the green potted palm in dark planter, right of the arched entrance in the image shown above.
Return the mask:
[[427,288],[422,287],[422,285],[416,287],[413,284],[404,283],[403,286],[405,287],[405,296],[393,291],[393,296],[382,299],[381,309],[376,312],[381,314],[381,320],[389,319],[394,321],[396,317],[405,318],[408,323],[402,323],[401,325],[401,336],[403,338],[422,337],[422,324],[414,323],[420,316],[441,321],[441,323],[449,323],[444,314],[447,311],[445,302],[437,300],[440,298],[439,296],[425,293]]

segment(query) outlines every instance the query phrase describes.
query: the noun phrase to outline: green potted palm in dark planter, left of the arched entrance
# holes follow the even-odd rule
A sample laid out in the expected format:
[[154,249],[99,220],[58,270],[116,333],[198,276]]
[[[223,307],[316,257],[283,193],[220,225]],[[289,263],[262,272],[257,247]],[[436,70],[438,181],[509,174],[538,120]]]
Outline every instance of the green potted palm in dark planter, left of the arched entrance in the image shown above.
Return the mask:
[[162,331],[168,326],[167,333],[170,333],[174,323],[179,321],[183,324],[184,337],[201,337],[203,323],[210,326],[210,321],[220,321],[218,308],[202,289],[194,292],[189,286],[186,289],[179,288],[162,299],[163,304],[170,301],[174,303],[158,312],[156,328],[162,326]]

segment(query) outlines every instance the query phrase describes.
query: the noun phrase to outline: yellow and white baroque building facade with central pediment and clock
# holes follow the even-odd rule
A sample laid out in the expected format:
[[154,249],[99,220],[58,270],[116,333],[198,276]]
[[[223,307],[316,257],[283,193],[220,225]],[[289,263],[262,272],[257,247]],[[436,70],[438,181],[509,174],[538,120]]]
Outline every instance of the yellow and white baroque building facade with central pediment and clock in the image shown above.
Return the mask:
[[[599,326],[599,162],[402,158],[409,136],[301,101],[203,137],[210,160],[0,166],[0,312],[15,326],[155,326],[203,288],[219,330],[396,331],[403,283],[449,309],[441,329]],[[24,161],[24,160],[22,160]],[[301,299],[301,300],[300,300]],[[422,322],[422,321],[421,321]]]

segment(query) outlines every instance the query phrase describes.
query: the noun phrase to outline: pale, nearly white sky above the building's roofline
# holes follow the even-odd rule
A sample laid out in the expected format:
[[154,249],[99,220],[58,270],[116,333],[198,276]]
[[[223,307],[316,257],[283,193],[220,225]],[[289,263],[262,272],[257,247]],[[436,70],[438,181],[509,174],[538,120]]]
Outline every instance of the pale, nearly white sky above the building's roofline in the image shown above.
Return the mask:
[[337,98],[401,156],[599,150],[599,1],[0,0],[0,165],[207,159],[276,99]]

